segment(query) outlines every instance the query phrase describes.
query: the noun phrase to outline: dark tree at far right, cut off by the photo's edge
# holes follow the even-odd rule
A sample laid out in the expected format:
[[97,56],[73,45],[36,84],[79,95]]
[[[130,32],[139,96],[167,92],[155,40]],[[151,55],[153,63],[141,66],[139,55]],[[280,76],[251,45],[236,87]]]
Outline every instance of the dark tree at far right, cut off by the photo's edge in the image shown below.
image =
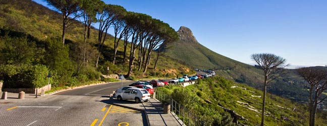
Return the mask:
[[322,93],[327,90],[327,72],[314,68],[300,68],[297,72],[308,82],[305,88],[310,95],[309,125],[314,126],[317,105],[327,98],[322,98]]

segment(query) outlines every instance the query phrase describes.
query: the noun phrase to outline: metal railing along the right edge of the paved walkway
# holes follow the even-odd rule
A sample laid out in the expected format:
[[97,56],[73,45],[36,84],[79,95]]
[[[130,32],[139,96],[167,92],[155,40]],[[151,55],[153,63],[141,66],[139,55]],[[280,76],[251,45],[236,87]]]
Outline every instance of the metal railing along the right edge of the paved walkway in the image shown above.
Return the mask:
[[162,104],[169,103],[171,105],[171,113],[174,116],[177,116],[177,119],[182,120],[182,124],[185,125],[205,125],[205,122],[202,121],[199,117],[197,117],[194,113],[188,110],[183,105],[179,104],[169,95],[163,92],[156,92],[156,99],[159,100]]

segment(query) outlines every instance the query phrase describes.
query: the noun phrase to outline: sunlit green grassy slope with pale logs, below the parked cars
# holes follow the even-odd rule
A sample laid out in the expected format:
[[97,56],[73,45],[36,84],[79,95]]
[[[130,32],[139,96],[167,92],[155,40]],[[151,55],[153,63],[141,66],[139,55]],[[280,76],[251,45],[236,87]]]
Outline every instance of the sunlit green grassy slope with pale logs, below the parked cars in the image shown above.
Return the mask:
[[[232,86],[238,86],[237,88],[231,88]],[[246,88],[246,90],[241,88]],[[204,109],[209,109],[215,112],[223,113],[221,108],[212,108],[208,102],[204,100],[209,100],[213,106],[221,104],[222,106],[234,110],[236,113],[242,115],[246,120],[239,120],[239,122],[247,125],[258,125],[261,121],[261,114],[253,110],[261,112],[261,103],[262,98],[252,97],[261,96],[262,91],[256,90],[252,87],[246,86],[244,84],[235,83],[234,81],[226,80],[222,77],[214,77],[203,79],[200,83],[187,86],[186,88],[180,86],[169,86],[169,87],[160,87],[157,89],[157,93],[166,92],[166,94],[173,94],[175,89],[184,89],[187,90],[192,96],[192,99],[197,99],[192,106],[195,111],[201,110],[201,107]],[[254,92],[254,93],[252,93]],[[248,103],[245,105],[240,102]],[[284,108],[281,108],[281,107]],[[285,99],[273,94],[267,94],[266,97],[266,106],[265,110],[269,116],[265,117],[265,124],[267,125],[308,125],[308,111],[303,104],[292,102],[289,99]],[[252,108],[250,110],[248,108]],[[295,108],[295,110],[293,110]],[[203,108],[202,108],[203,109]],[[199,112],[199,116],[203,116],[207,113]],[[316,124],[324,125],[327,123],[323,119],[323,114],[318,113],[316,117]],[[277,118],[274,118],[277,117]],[[283,117],[290,119],[284,120]]]

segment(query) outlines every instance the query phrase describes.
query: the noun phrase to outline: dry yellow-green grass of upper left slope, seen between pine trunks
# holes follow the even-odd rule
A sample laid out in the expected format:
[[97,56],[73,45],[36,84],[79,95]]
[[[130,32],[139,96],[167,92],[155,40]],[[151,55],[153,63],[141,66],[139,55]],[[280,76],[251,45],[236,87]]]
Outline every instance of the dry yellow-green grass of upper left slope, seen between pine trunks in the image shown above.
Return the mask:
[[[36,37],[39,40],[45,40],[48,37],[61,37],[61,15],[55,11],[49,10],[42,5],[39,5],[30,0],[13,0],[13,1],[0,1],[0,28],[10,29],[20,32],[25,32]],[[80,23],[73,24],[67,29],[66,39],[73,42],[83,41],[83,26]],[[90,41],[96,43],[97,30],[91,30]],[[108,36],[105,42],[107,48],[102,53],[104,59],[100,61],[103,65],[106,60],[112,61],[113,59],[113,37]],[[129,55],[129,51],[127,51]],[[152,54],[152,60],[150,62],[149,69],[145,76],[140,76],[140,72],[135,72],[137,78],[148,77],[151,78],[154,75],[164,76],[169,73],[170,76],[175,76],[182,73],[194,73],[187,66],[175,62],[169,57],[160,57],[157,65],[157,70],[152,70],[154,66],[155,52]],[[136,54],[136,59],[138,53]],[[127,64],[122,64],[123,59],[123,43],[120,43],[118,49],[118,65],[113,69],[120,69],[123,67],[123,72],[127,72]],[[136,65],[138,63],[136,62]],[[103,67],[106,69],[106,67]],[[106,70],[105,70],[106,71]],[[153,74],[156,73],[156,74]],[[159,74],[157,74],[159,73]]]

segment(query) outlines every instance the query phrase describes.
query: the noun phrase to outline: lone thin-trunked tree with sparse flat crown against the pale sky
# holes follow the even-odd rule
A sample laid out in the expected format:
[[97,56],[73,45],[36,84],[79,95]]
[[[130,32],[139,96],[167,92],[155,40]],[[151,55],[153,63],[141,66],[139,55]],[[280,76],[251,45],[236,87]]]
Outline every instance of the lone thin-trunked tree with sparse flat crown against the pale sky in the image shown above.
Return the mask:
[[251,58],[258,64],[261,70],[263,70],[264,82],[263,82],[263,97],[262,97],[262,113],[261,113],[261,126],[264,125],[264,107],[266,89],[269,82],[275,80],[281,74],[283,68],[286,65],[286,59],[270,53],[252,54]]

